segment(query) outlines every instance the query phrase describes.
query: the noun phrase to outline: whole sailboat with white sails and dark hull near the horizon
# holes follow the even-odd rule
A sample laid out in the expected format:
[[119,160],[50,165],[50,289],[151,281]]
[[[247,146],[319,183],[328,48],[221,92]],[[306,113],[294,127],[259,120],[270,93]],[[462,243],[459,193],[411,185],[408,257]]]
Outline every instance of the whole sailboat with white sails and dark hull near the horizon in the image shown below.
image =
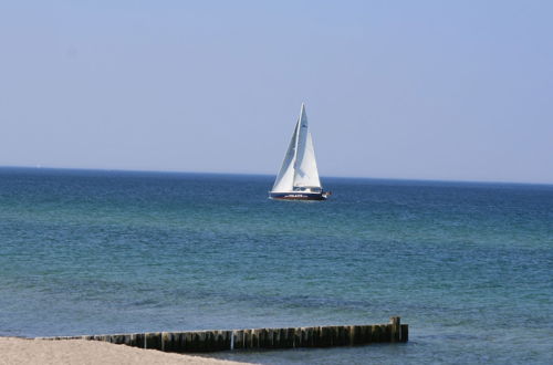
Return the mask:
[[302,103],[292,140],[269,197],[279,200],[326,200],[328,196],[330,191],[323,191],[319,179],[313,138],[305,104]]

